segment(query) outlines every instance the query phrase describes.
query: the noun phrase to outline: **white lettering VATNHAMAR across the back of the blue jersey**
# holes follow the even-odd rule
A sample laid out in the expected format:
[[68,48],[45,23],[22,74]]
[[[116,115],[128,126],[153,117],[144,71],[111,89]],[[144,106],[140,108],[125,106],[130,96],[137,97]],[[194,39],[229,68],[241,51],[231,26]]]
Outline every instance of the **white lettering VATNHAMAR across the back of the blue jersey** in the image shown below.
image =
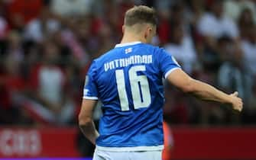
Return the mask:
[[109,69],[115,69],[118,67],[126,67],[132,64],[150,64],[152,63],[152,55],[134,55],[124,59],[115,59],[110,62],[104,63],[105,72]]

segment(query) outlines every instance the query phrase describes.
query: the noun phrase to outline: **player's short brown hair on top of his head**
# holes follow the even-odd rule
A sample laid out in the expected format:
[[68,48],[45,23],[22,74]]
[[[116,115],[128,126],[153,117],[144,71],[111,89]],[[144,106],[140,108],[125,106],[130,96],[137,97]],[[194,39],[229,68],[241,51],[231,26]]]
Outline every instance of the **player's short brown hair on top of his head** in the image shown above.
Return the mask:
[[157,25],[157,12],[154,8],[138,5],[126,11],[125,26],[133,26],[134,24],[143,23]]

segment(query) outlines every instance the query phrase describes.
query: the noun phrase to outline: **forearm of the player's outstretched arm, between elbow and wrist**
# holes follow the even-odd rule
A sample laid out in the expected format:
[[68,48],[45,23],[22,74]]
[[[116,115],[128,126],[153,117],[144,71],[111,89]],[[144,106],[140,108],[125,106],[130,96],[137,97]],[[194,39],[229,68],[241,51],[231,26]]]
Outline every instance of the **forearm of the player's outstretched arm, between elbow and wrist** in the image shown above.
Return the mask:
[[192,89],[191,93],[194,94],[197,98],[206,101],[218,101],[223,104],[232,104],[232,98],[228,94],[225,94],[222,91],[208,85],[204,82],[200,82],[197,80],[192,80]]

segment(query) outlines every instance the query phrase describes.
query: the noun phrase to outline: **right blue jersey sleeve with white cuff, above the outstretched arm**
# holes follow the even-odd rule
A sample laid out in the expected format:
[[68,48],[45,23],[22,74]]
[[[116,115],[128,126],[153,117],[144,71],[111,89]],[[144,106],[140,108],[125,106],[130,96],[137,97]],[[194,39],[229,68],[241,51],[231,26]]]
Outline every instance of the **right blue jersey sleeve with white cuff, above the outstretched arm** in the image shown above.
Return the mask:
[[167,53],[167,51],[164,49],[160,49],[158,59],[160,71],[163,72],[164,78],[167,78],[167,76],[170,75],[170,73],[173,72],[173,70],[181,69],[176,59],[173,56],[171,56],[170,53]]

